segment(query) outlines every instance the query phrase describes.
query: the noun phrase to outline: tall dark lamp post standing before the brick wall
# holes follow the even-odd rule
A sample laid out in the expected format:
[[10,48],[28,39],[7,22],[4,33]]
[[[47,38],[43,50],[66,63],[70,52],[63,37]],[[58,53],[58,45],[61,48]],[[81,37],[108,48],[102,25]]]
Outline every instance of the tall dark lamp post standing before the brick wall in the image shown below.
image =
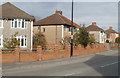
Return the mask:
[[72,0],[72,10],[71,10],[71,50],[70,57],[73,56],[73,0]]

